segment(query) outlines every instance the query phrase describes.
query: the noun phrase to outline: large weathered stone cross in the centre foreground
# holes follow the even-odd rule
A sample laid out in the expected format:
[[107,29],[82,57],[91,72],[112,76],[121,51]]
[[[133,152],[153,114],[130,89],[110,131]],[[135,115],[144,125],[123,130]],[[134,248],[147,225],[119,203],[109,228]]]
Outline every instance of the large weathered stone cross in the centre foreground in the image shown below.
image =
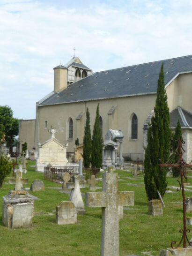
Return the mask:
[[103,173],[103,192],[86,192],[87,207],[102,207],[101,256],[119,256],[118,206],[134,205],[134,192],[118,192],[118,173]]

